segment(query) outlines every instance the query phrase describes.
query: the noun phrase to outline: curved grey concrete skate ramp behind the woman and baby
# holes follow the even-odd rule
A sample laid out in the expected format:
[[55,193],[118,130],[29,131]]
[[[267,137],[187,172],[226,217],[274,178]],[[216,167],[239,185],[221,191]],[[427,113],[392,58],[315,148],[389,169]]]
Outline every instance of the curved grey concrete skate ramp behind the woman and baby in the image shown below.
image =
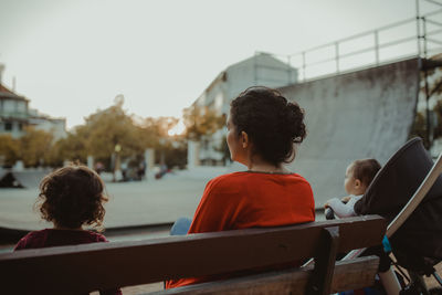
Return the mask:
[[348,164],[376,158],[383,165],[407,141],[418,102],[419,60],[295,84],[281,92],[306,113],[307,138],[288,168],[312,183],[318,208],[329,198],[346,196]]

